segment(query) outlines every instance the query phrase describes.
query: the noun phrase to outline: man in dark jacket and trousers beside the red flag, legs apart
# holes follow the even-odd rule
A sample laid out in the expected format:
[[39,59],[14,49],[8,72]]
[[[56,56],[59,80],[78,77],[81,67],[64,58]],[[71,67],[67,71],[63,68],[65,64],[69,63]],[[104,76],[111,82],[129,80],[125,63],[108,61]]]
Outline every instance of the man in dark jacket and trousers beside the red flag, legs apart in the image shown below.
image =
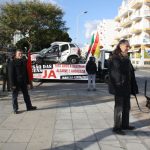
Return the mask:
[[22,91],[24,101],[26,103],[27,111],[35,110],[36,106],[32,106],[30,96],[28,94],[28,72],[27,72],[27,61],[23,58],[21,50],[17,50],[15,53],[15,57],[9,63],[9,79],[10,86],[12,88],[12,103],[14,113],[18,113],[18,93],[19,90]]

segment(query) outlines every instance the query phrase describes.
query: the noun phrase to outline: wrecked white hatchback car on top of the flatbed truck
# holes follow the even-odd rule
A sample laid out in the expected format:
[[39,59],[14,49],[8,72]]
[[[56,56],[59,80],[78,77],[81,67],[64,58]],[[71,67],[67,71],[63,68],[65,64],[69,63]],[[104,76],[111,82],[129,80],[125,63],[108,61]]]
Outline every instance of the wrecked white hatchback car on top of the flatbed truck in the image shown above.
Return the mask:
[[81,58],[80,48],[70,42],[54,42],[49,48],[41,50],[31,57],[32,62],[42,64],[43,62],[77,64]]

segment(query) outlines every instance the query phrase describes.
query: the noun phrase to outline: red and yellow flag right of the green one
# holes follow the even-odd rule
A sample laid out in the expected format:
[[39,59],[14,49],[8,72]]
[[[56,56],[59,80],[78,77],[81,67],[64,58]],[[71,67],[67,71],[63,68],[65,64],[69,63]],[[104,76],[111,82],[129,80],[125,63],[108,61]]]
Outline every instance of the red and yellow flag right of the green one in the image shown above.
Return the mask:
[[91,53],[92,53],[92,56],[95,56],[96,58],[98,58],[100,55],[100,43],[99,43],[98,32],[96,34],[96,38],[95,38]]

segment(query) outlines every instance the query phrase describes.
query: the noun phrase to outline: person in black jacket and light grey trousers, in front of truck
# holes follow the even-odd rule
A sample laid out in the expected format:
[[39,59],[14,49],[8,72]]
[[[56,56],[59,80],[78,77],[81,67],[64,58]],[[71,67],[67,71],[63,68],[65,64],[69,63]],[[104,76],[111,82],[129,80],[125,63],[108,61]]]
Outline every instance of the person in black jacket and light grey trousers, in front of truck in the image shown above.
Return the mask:
[[89,61],[86,64],[86,72],[88,73],[88,91],[91,90],[91,86],[93,85],[93,91],[96,91],[96,72],[97,72],[97,66],[95,63],[95,57],[91,56],[89,58]]

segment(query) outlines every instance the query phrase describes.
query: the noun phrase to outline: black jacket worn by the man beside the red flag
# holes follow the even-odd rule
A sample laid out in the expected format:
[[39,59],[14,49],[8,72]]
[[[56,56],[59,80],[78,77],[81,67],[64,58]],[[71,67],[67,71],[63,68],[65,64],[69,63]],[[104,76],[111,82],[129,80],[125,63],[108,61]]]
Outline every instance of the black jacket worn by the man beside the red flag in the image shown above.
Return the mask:
[[29,84],[27,61],[25,59],[14,59],[9,63],[8,68],[10,86],[19,87]]

